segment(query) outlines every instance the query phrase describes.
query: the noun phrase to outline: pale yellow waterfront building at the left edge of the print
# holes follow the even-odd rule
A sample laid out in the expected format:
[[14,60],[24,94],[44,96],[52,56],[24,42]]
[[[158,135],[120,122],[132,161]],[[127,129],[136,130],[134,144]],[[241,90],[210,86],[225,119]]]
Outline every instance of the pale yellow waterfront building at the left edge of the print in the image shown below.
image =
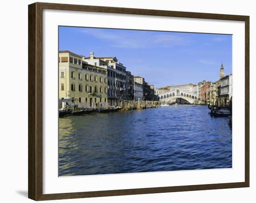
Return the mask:
[[83,61],[83,56],[59,51],[60,108],[72,101],[77,108],[107,107],[107,70]]

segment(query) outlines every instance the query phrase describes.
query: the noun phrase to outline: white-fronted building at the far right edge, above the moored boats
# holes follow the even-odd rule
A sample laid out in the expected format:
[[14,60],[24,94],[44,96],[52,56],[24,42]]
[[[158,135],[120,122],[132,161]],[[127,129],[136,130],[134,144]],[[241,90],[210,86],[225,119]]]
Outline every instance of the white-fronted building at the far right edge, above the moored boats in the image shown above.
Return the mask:
[[220,79],[220,95],[218,95],[220,105],[229,105],[232,99],[232,74]]

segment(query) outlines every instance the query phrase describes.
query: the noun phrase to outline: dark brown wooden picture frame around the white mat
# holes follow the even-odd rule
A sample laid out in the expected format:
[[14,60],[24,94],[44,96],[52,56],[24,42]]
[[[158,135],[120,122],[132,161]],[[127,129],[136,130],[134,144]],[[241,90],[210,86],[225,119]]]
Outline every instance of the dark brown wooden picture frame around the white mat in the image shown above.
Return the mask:
[[[245,22],[245,181],[224,184],[201,184],[105,190],[60,194],[43,194],[43,9],[121,13],[181,18],[235,20]],[[52,3],[34,3],[28,6],[28,197],[33,200],[53,200],[82,197],[135,195],[190,190],[212,190],[249,187],[249,16],[213,13],[148,10],[135,8],[81,6]]]

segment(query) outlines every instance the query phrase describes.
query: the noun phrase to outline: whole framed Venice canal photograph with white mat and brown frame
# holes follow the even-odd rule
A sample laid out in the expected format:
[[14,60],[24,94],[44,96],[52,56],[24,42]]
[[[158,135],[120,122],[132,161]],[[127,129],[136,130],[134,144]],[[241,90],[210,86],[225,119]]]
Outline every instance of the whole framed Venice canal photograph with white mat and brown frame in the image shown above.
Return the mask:
[[249,187],[249,16],[28,6],[28,196]]

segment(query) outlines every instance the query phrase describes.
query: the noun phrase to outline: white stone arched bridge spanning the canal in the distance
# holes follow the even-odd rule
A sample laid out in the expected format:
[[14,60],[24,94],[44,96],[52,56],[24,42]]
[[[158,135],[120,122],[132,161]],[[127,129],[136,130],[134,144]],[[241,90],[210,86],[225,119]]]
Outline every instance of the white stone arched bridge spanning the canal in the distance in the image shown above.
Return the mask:
[[197,95],[180,91],[179,89],[174,89],[169,92],[165,92],[162,95],[158,95],[158,99],[160,101],[168,102],[176,102],[177,99],[185,100],[186,102],[193,104],[197,100]]

